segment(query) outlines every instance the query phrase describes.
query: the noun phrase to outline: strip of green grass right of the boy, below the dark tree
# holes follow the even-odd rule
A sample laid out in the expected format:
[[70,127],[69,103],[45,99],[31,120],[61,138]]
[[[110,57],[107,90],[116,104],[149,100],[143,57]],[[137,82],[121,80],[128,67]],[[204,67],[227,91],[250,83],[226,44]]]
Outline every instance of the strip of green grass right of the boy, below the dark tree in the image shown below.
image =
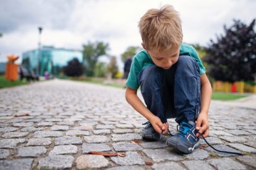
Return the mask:
[[236,100],[242,97],[247,97],[247,94],[232,94],[226,92],[213,92],[211,99],[213,100]]

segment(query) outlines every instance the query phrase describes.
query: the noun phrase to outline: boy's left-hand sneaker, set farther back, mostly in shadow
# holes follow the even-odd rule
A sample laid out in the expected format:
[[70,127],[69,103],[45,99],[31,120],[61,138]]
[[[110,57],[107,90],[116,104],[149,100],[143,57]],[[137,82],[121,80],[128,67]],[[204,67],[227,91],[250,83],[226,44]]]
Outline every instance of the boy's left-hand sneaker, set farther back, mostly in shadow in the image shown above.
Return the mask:
[[148,140],[160,140],[161,134],[155,131],[154,127],[151,125],[151,123],[148,121],[146,127],[142,130],[142,138],[148,139]]

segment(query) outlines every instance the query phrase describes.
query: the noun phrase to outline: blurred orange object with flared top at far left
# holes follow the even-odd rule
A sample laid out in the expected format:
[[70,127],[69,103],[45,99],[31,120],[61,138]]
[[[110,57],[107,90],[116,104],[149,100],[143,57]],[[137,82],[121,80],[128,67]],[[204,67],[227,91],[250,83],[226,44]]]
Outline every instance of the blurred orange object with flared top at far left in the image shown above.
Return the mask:
[[15,64],[15,60],[19,59],[17,55],[7,55],[9,60],[6,63],[6,79],[9,81],[15,81],[18,79],[18,68],[19,65]]

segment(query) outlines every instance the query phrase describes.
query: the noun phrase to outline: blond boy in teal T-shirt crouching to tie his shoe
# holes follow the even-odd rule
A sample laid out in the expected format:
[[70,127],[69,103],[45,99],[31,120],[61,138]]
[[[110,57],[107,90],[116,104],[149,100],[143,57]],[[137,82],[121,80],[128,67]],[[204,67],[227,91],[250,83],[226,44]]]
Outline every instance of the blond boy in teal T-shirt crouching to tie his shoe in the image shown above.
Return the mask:
[[[126,100],[148,119],[143,139],[159,140],[176,118],[178,134],[166,144],[183,153],[208,136],[211,85],[194,47],[182,44],[181,20],[173,6],[150,9],[139,22],[143,51],[135,55],[126,82]],[[137,96],[140,86],[145,105]],[[198,132],[197,132],[198,131]]]

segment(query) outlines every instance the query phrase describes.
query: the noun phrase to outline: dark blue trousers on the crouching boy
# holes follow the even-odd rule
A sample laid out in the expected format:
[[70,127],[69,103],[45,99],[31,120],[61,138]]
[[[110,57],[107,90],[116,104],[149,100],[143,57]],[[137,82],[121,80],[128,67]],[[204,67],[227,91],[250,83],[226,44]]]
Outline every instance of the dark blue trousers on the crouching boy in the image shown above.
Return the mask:
[[137,76],[147,108],[163,123],[195,121],[200,111],[200,73],[195,59],[181,55],[168,70],[151,65]]

